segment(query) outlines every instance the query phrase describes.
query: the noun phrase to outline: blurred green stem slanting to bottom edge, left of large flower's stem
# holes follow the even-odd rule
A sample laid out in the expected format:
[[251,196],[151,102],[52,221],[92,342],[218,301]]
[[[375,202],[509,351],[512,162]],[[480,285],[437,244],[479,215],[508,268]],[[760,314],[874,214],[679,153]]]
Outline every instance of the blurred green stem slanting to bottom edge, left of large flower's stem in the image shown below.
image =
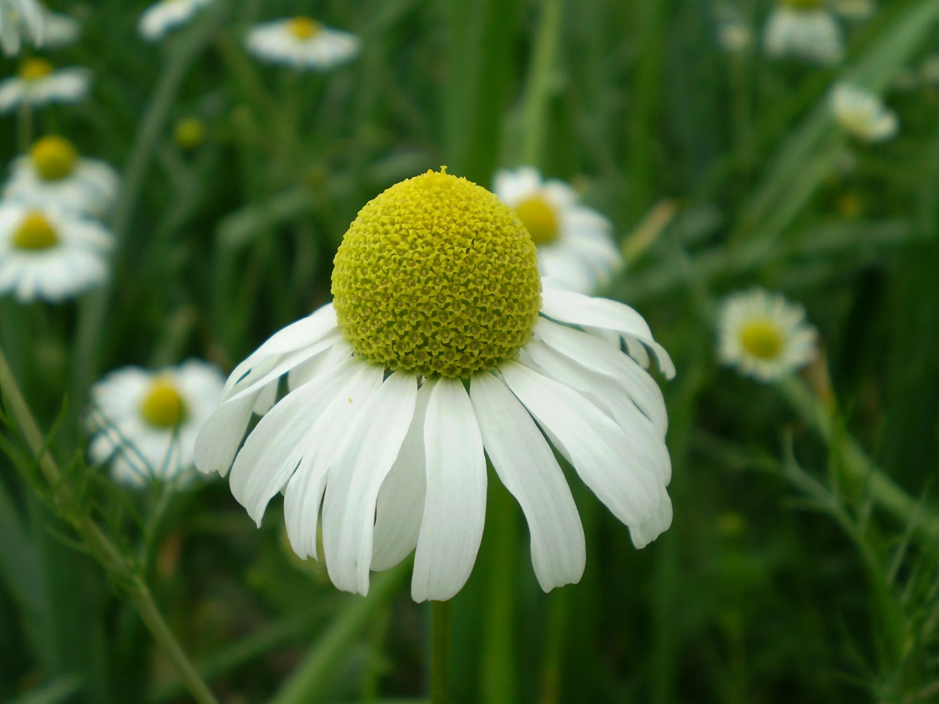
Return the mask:
[[316,640],[316,644],[270,704],[307,704],[316,701],[316,697],[336,674],[336,667],[342,663],[356,638],[381,607],[393,599],[409,570],[410,561],[406,560],[375,577],[367,597],[349,597],[349,603]]

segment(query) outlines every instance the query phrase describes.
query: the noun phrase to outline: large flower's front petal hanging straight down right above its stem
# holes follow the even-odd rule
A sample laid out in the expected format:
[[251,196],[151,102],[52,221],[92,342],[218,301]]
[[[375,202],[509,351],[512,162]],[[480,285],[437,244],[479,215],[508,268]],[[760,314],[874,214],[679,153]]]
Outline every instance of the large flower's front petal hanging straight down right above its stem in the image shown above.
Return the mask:
[[459,379],[441,378],[431,392],[423,440],[427,497],[411,597],[446,601],[469,579],[485,525],[483,436]]

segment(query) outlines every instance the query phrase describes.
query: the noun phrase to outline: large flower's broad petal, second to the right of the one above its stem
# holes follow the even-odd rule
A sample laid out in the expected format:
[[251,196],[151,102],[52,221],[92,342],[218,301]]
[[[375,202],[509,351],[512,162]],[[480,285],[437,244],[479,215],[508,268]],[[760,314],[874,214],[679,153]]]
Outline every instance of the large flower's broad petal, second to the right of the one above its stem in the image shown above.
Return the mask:
[[626,525],[647,520],[659,495],[654,469],[638,461],[620,427],[576,390],[517,362],[500,364],[509,389],[545,429],[577,474]]

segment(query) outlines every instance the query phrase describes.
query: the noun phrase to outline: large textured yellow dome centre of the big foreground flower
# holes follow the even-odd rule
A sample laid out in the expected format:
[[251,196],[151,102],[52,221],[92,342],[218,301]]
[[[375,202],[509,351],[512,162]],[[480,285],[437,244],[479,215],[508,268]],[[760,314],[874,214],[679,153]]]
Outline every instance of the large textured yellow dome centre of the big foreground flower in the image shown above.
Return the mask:
[[465,378],[516,357],[541,307],[534,244],[512,208],[442,169],[359,211],[332,297],[349,344],[392,370]]

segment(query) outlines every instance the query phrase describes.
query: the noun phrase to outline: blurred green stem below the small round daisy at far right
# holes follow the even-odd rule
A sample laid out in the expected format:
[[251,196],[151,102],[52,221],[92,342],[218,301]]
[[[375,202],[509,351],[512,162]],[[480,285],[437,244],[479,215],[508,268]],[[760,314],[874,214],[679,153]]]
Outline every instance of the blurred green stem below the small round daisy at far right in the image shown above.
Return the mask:
[[835,412],[808,389],[797,377],[782,379],[777,389],[825,443],[834,449],[837,444],[845,473],[855,482],[863,482],[870,496],[887,512],[905,525],[911,525],[929,540],[939,537],[939,516],[910,497],[884,471],[877,467],[861,449],[854,437],[837,432]]

